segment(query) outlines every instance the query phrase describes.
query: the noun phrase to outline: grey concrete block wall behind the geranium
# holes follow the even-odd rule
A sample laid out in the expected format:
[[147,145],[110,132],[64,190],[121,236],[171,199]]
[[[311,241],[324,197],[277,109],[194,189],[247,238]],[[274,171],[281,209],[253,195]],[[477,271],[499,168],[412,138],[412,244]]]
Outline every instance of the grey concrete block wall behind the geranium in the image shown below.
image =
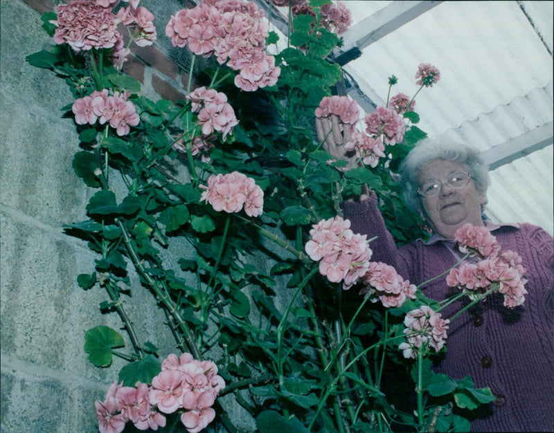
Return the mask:
[[[164,35],[170,15],[192,1],[143,0],[156,15],[159,42],[136,50],[125,70],[143,84],[148,98],[181,99],[187,55]],[[40,17],[52,0],[0,2],[0,318],[1,421],[3,433],[98,432],[93,402],[126,362],[114,358],[98,369],[83,351],[84,333],[106,324],[120,329],[116,313],[102,315],[100,288],[83,291],[80,273],[91,273],[96,255],[84,241],[63,232],[85,219],[95,192],[71,169],[78,137],[61,107],[73,102],[68,86],[25,57],[53,44]],[[151,47],[152,48],[152,47]],[[136,275],[131,275],[139,286]],[[147,291],[136,331],[161,353],[175,341],[160,329],[163,317]],[[134,317],[137,311],[127,311]],[[150,320],[144,320],[150,317]],[[122,334],[126,338],[125,332]],[[129,344],[129,342],[127,342]],[[231,404],[231,403],[230,403]],[[237,409],[238,410],[238,409]]]

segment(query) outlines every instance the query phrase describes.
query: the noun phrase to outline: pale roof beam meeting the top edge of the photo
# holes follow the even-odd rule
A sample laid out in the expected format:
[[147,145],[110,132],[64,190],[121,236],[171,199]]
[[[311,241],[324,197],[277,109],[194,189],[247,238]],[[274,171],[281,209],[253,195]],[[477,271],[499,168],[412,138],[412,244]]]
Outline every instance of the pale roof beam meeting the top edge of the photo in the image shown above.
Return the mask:
[[344,40],[343,50],[347,51],[354,46],[363,50],[440,3],[443,2],[438,0],[393,1],[343,33],[341,35]]

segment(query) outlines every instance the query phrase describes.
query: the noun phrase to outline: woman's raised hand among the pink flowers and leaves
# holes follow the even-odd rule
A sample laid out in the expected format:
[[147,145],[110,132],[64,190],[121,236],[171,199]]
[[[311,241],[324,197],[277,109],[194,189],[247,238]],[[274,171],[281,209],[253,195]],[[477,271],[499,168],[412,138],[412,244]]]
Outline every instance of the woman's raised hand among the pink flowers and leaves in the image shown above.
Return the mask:
[[344,145],[352,139],[350,125],[344,125],[335,114],[329,118],[316,118],[317,139],[323,143],[323,149],[336,160],[346,160],[348,165],[340,167],[342,171],[349,170],[359,165],[355,151],[345,150]]

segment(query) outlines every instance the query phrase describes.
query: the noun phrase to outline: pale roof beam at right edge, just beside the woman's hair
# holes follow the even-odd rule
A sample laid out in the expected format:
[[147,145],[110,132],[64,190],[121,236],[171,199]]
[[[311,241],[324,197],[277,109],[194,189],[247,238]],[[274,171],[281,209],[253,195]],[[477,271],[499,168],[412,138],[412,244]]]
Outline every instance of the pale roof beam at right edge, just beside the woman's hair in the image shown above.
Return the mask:
[[489,169],[494,170],[533,151],[552,145],[553,140],[553,122],[546,122],[544,125],[521,134],[521,136],[483,151],[481,156],[483,156],[485,163],[489,165]]

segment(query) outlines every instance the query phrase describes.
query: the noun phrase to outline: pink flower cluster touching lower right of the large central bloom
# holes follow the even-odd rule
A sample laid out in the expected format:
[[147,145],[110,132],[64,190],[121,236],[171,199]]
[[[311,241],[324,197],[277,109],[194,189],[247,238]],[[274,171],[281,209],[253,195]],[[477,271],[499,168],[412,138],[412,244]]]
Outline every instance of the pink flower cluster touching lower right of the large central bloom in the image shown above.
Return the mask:
[[393,266],[380,261],[370,261],[367,273],[361,281],[364,288],[360,294],[375,297],[375,302],[378,298],[387,308],[402,306],[406,297],[415,299],[417,288],[402,279]]

